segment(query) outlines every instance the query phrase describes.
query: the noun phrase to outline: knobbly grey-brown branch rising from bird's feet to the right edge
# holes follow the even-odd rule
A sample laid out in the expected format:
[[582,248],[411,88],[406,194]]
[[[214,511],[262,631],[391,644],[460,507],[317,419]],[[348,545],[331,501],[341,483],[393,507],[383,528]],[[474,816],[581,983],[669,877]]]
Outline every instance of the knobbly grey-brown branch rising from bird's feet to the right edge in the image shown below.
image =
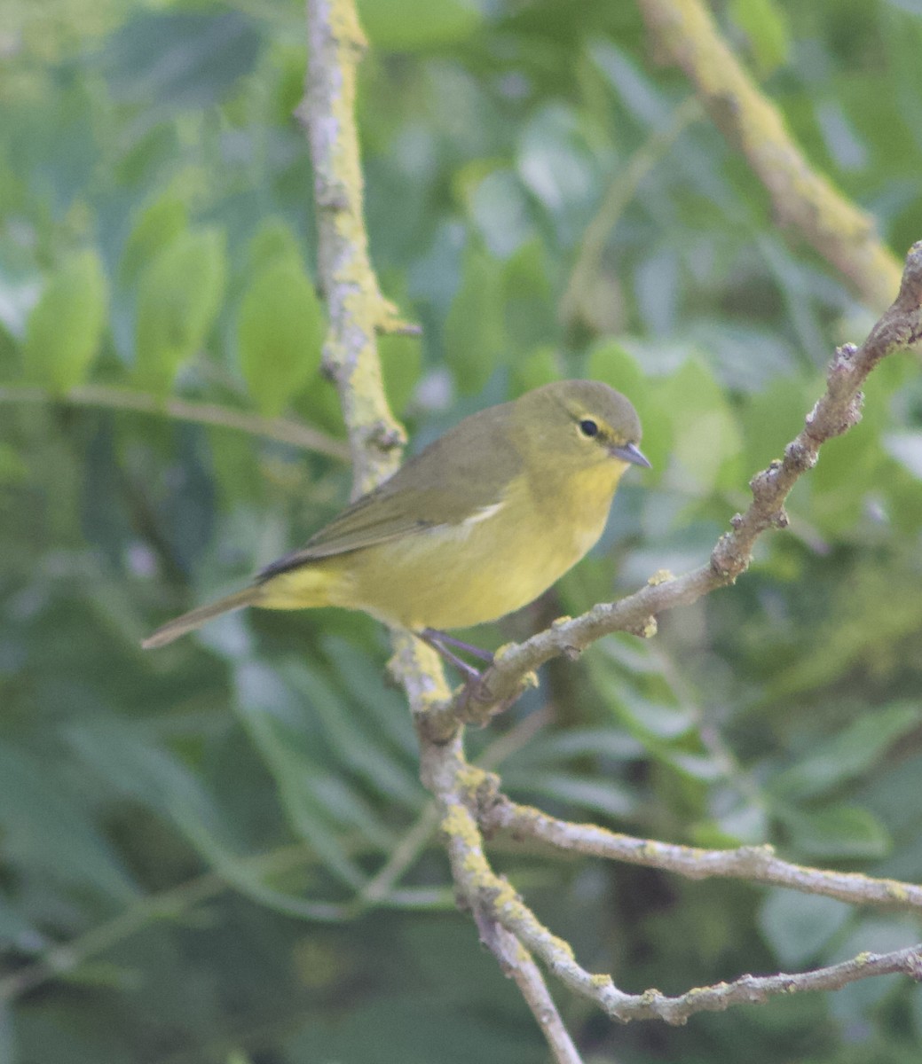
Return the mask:
[[487,720],[514,700],[528,675],[550,658],[575,656],[612,632],[652,636],[659,613],[734,583],[748,568],[762,532],[787,526],[785,501],[797,479],[816,465],[820,447],[860,420],[861,387],[871,370],[887,355],[906,350],[920,339],[922,240],[909,249],[895,302],[859,348],[845,344],[836,351],[826,377],[826,392],[807,414],[803,430],[785,448],[784,460],[772,462],[750,481],[753,501],[744,514],[730,519],[730,531],[718,541],[709,563],[682,577],[657,573],[627,598],[593,606],[575,619],[562,617],[525,643],[500,648],[494,664],[483,674],[476,697],[464,692],[454,704],[431,715],[432,734],[450,733],[458,720]]

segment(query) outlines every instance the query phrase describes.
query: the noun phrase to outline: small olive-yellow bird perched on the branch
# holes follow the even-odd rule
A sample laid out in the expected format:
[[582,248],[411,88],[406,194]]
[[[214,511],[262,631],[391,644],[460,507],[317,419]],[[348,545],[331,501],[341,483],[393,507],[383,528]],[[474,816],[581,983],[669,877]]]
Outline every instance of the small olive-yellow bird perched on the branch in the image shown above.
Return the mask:
[[480,411],[251,586],[177,617],[143,646],[247,605],[339,605],[410,629],[455,660],[443,643],[473,648],[444,629],[526,605],[596,543],[624,471],[649,467],[640,436],[630,402],[597,381],[557,381]]

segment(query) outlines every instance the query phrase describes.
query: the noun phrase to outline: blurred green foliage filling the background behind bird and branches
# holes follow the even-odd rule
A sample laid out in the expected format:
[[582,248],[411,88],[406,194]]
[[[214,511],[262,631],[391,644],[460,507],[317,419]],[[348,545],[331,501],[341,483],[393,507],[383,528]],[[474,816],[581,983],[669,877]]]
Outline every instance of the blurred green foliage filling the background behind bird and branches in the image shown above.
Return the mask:
[[[651,60],[633,4],[360,6],[373,254],[424,327],[382,349],[414,446],[587,375],[631,396],[654,461],[590,559],[477,633],[498,645],[699,564],[871,315],[777,230],[684,79]],[[902,254],[922,236],[918,4],[715,6],[807,156]],[[54,398],[92,383],[342,432],[293,118],[302,18],[283,0],[4,6],[0,1059],[15,1064],[543,1059],[455,912],[385,633],[263,614],[138,648],[302,542],[348,470]],[[922,384],[903,356],[736,587],[648,644],[553,663],[474,751],[569,817],[919,880],[920,478]],[[629,991],[920,938],[905,916],[790,892],[497,861]],[[596,1064],[899,1064],[922,1040],[922,994],[895,979],[678,1030],[614,1029],[554,992]]]

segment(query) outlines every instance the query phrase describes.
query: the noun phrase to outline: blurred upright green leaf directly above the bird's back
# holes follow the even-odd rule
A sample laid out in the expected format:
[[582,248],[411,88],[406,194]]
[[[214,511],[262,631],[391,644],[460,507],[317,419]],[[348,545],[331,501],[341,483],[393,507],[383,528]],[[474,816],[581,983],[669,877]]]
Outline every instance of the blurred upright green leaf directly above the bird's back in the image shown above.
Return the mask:
[[505,352],[501,273],[496,260],[468,249],[443,334],[445,361],[464,395],[480,392]]

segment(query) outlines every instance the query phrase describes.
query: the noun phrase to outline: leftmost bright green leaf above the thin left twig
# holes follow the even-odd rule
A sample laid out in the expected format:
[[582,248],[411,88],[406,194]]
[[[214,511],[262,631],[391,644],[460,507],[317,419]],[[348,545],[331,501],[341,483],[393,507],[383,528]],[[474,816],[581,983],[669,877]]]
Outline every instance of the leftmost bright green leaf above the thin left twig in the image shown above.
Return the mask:
[[105,272],[92,249],[54,273],[26,323],[22,362],[29,380],[67,392],[82,384],[99,352],[109,302]]

